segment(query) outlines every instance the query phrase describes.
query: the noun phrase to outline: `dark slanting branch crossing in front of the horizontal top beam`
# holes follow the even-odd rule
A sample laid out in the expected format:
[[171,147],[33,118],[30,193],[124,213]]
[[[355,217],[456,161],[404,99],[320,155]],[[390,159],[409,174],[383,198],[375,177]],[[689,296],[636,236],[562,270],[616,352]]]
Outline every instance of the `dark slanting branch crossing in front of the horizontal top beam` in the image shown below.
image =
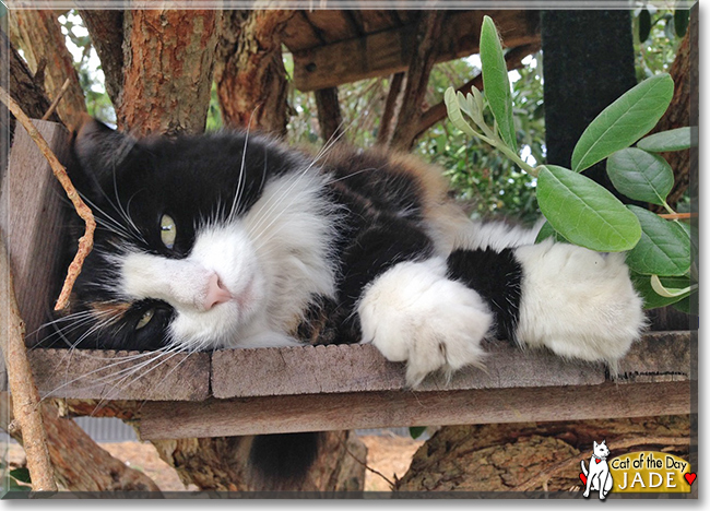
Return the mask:
[[409,151],[416,136],[417,122],[422,116],[424,95],[429,82],[429,73],[436,61],[436,41],[441,34],[443,11],[422,13],[416,34],[416,51],[406,72],[406,87],[402,96],[402,107],[392,131],[390,147]]

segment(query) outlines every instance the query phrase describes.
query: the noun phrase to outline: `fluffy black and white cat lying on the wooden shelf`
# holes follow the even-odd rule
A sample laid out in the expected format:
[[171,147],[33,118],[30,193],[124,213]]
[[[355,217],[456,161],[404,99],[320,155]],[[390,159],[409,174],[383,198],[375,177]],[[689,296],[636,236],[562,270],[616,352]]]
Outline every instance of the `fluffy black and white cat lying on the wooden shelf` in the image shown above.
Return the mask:
[[488,336],[614,364],[644,324],[623,254],[472,223],[411,156],[96,121],[73,151],[99,225],[62,320],[78,347],[372,343],[415,387]]

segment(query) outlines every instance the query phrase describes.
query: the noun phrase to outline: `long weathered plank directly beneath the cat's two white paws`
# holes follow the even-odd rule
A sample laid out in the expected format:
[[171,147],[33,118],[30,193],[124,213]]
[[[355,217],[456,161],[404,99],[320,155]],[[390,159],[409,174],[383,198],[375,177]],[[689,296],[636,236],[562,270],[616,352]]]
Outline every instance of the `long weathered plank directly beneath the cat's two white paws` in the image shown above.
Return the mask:
[[[487,343],[486,368],[465,368],[447,383],[428,377],[417,391],[591,385],[605,380],[601,365],[567,361],[507,342]],[[404,365],[371,345],[228,349],[212,357],[215,397],[374,392],[405,389]]]

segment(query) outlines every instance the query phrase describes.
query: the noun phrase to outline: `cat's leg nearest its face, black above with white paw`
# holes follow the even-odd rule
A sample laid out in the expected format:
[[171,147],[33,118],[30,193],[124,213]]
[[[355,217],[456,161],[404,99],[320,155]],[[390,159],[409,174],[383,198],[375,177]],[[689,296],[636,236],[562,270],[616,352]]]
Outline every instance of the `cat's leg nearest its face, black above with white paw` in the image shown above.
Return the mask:
[[410,385],[439,369],[481,364],[493,314],[475,290],[449,278],[423,230],[405,223],[368,229],[343,273],[343,310],[357,322],[362,342],[405,361]]

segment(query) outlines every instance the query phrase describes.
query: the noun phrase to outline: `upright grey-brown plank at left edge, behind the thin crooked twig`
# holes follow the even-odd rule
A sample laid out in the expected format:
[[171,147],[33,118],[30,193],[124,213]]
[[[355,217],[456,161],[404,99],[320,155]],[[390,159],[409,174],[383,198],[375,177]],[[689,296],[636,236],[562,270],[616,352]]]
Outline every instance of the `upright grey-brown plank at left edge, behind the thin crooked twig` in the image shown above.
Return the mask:
[[[66,163],[67,130],[56,122],[33,122],[59,161]],[[54,294],[59,292],[66,195],[37,145],[21,127],[15,129],[1,187],[0,230],[8,245],[27,344],[34,345],[38,342],[35,332],[54,309]]]

